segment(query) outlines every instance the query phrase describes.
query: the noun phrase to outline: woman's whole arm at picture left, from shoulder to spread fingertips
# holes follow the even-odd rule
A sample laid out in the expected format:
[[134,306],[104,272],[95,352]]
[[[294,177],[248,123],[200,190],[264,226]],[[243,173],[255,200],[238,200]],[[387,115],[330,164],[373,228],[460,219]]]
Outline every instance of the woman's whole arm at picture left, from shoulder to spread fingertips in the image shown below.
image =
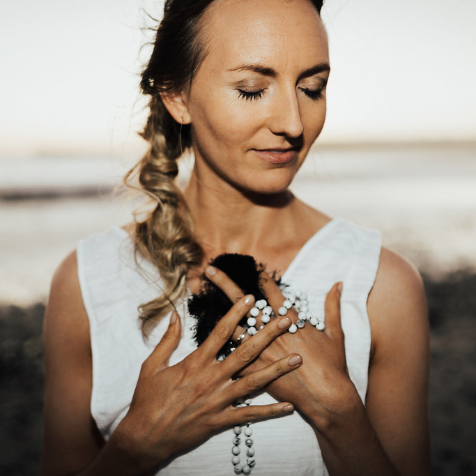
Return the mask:
[[[234,381],[232,376],[291,325],[276,321],[249,339],[224,362],[215,355],[231,337],[254,302],[247,296],[196,351],[169,367],[181,338],[172,314],[167,332],[142,364],[128,414],[104,443],[89,408],[92,359],[89,323],[77,279],[75,254],[56,272],[45,316],[45,435],[42,475],[140,475],[234,424],[261,420],[293,410],[287,402],[235,408],[232,403],[299,367],[294,355]],[[204,385],[204,382],[207,385]]]

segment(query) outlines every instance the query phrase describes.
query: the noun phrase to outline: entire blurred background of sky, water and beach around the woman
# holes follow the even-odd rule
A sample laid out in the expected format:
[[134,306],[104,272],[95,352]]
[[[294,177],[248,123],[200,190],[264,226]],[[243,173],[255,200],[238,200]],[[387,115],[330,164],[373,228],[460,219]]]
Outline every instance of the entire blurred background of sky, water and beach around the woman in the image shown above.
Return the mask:
[[[0,2],[0,473],[36,474],[41,321],[78,240],[130,220],[151,0]],[[476,474],[476,4],[327,0],[328,119],[293,183],[424,275],[436,475]],[[181,180],[190,169],[183,164]]]

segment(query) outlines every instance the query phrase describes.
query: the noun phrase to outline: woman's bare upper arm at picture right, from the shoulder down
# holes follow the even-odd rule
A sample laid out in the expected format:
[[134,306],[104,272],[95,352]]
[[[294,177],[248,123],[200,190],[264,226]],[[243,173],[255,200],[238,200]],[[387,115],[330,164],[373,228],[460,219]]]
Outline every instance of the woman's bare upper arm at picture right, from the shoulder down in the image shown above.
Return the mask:
[[417,270],[383,249],[368,308],[369,419],[401,474],[428,475],[429,324]]

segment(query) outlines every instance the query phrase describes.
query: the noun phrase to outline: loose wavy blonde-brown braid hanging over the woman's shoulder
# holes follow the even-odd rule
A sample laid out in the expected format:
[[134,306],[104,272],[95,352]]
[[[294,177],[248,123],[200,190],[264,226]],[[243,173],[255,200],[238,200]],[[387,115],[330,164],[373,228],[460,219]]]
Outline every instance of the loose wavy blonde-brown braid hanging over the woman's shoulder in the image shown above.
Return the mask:
[[[141,136],[150,146],[141,162],[125,176],[125,183],[129,183],[137,175],[141,189],[158,202],[135,228],[136,250],[157,266],[164,283],[162,295],[139,307],[144,332],[167,314],[176,300],[185,296],[187,270],[199,265],[203,256],[192,236],[192,218],[183,192],[175,181],[183,145],[180,128],[159,95],[153,95],[149,107]],[[173,132],[169,129],[165,136],[167,127]]]

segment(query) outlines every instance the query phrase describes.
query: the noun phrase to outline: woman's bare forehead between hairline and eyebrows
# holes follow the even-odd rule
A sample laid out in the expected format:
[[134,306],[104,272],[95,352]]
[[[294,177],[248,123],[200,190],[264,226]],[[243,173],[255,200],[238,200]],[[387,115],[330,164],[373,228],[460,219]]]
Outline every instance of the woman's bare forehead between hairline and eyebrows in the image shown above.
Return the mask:
[[327,35],[308,0],[216,0],[203,21],[208,68],[254,62],[308,68],[328,61]]

